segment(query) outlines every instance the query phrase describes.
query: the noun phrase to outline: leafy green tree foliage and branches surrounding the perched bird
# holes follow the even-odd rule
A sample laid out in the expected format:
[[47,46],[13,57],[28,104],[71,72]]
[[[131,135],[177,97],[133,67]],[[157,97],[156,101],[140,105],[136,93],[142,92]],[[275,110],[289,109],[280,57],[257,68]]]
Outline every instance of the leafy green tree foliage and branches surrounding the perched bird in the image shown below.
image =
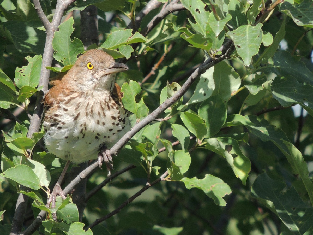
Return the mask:
[[[0,11],[1,234],[313,234],[310,0]],[[45,152],[41,100],[49,76],[97,47],[130,68],[117,82],[133,128],[109,178],[97,161],[72,165],[51,209],[65,162]]]

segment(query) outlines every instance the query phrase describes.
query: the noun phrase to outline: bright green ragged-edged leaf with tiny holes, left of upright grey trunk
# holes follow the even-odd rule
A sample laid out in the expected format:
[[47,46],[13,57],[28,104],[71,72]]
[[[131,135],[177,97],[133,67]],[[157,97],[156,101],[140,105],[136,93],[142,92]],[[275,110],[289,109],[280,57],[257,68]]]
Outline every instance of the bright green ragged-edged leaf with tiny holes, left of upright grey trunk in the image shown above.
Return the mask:
[[31,86],[36,88],[39,84],[40,70],[41,70],[41,55],[35,55],[33,58],[27,56],[27,66],[17,67],[15,70],[15,84],[18,88],[22,86]]

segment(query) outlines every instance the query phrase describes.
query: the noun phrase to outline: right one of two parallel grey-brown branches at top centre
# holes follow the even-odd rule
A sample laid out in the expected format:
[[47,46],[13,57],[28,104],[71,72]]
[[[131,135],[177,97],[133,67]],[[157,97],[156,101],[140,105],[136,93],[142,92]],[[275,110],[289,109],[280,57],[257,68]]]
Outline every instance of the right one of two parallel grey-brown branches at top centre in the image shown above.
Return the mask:
[[141,30],[141,34],[146,36],[157,24],[159,24],[162,19],[164,19],[168,14],[176,12],[176,11],[183,11],[186,8],[180,3],[178,4],[179,0],[173,0],[170,4],[168,4],[160,13],[158,13],[155,17],[152,18],[150,23]]

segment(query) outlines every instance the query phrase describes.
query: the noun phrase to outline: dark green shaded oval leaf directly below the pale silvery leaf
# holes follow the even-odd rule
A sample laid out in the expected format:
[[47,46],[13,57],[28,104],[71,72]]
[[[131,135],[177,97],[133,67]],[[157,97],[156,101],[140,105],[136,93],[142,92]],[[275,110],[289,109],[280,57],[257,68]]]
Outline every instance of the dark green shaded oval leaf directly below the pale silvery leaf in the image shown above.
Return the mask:
[[218,133],[227,118],[227,109],[223,100],[218,95],[205,100],[200,105],[198,113],[199,117],[205,121],[207,127],[206,138]]

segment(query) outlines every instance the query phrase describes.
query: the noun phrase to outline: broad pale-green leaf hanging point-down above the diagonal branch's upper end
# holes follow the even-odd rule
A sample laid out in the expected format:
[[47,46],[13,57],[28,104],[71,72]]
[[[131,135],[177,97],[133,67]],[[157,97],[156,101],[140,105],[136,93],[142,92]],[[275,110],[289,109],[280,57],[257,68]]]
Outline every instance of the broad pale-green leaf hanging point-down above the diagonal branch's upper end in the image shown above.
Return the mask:
[[259,52],[262,43],[262,26],[260,23],[256,26],[243,25],[226,34],[233,40],[238,55],[247,66],[250,65],[252,56]]

